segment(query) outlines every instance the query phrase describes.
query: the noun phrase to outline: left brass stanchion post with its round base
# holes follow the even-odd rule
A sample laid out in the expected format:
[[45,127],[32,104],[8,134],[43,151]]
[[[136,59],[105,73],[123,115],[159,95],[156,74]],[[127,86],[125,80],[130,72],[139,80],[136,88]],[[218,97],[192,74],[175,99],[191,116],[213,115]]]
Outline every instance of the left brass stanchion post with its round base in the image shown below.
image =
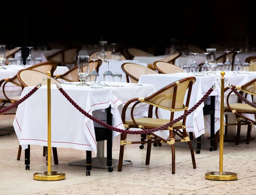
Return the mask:
[[34,173],[34,180],[39,181],[58,181],[66,178],[66,174],[62,172],[52,171],[52,138],[51,138],[51,72],[47,72],[47,146],[48,160],[47,171]]

